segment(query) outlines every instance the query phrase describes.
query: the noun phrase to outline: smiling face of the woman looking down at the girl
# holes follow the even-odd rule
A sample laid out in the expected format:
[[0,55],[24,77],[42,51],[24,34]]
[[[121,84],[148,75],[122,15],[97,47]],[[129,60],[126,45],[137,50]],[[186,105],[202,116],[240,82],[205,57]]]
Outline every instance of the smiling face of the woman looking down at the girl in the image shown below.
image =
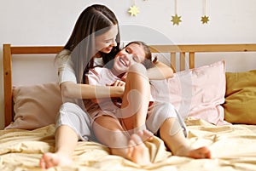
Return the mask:
[[118,26],[111,26],[110,29],[96,37],[96,50],[108,54],[114,46],[117,46],[115,38],[118,34]]

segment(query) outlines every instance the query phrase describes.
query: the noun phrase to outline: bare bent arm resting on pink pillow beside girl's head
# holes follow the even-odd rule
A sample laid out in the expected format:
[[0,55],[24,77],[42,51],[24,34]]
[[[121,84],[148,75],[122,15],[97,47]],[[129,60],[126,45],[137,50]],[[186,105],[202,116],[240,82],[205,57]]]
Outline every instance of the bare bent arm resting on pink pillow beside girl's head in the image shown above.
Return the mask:
[[166,66],[160,61],[156,61],[155,66],[149,68],[148,70],[148,78],[149,80],[161,80],[169,77],[173,77],[172,68]]

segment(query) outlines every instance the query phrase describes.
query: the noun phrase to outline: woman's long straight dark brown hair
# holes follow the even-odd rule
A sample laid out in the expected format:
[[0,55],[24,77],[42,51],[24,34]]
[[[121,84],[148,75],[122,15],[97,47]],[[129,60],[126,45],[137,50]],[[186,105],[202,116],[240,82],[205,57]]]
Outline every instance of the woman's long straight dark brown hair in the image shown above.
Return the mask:
[[106,6],[95,4],[84,9],[79,15],[72,35],[64,46],[65,49],[71,51],[71,60],[73,60],[78,83],[84,83],[84,73],[93,66],[93,56],[96,52],[96,36],[107,32],[114,25],[118,26],[117,46],[109,54],[102,53],[102,59],[105,64],[109,60],[113,60],[114,55],[119,52],[119,23],[115,14]]

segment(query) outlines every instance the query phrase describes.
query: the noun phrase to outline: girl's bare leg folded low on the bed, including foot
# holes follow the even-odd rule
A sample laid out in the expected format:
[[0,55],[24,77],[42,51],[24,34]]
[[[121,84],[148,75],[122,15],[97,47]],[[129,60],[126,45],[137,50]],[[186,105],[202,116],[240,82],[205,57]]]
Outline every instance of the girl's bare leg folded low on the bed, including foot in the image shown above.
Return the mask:
[[150,163],[148,148],[143,144],[143,140],[152,138],[150,132],[144,130],[130,136],[117,118],[107,115],[96,118],[93,130],[97,140],[107,145],[113,155],[125,157],[140,165]]

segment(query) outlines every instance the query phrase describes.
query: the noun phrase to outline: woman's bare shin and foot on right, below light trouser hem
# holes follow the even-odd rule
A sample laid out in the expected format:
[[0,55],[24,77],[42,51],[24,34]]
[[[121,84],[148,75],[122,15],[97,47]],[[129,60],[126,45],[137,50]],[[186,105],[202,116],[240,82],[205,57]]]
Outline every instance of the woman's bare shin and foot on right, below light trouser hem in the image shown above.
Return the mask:
[[206,146],[198,149],[192,149],[189,146],[183,130],[181,128],[177,129],[177,122],[177,118],[170,117],[160,127],[160,138],[164,140],[173,155],[192,158],[211,158],[211,151]]

